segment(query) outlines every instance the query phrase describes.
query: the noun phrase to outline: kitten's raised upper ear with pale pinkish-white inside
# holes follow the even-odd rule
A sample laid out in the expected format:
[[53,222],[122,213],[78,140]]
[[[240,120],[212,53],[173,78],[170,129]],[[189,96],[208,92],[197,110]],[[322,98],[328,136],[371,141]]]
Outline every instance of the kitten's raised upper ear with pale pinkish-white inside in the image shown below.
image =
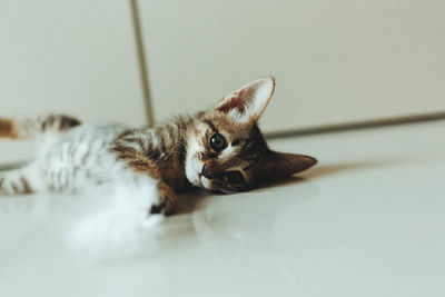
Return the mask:
[[257,121],[274,93],[274,78],[263,78],[227,95],[217,110],[238,122]]

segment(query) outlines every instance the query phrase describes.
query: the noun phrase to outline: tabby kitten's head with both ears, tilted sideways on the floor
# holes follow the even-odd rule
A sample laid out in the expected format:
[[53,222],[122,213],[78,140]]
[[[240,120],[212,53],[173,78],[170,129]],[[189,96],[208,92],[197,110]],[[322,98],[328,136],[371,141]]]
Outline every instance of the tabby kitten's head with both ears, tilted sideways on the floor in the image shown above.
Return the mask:
[[274,89],[273,78],[259,79],[198,113],[187,138],[186,176],[192,185],[222,192],[243,191],[290,177],[317,162],[309,156],[268,148],[257,121]]

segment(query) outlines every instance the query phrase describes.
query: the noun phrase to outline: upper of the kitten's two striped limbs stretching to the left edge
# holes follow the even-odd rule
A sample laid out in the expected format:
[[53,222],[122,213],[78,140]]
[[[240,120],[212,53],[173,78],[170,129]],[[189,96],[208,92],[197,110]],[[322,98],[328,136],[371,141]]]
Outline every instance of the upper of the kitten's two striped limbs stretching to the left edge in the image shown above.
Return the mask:
[[6,119],[0,117],[0,137],[33,138],[48,132],[58,133],[79,126],[80,120],[65,115]]

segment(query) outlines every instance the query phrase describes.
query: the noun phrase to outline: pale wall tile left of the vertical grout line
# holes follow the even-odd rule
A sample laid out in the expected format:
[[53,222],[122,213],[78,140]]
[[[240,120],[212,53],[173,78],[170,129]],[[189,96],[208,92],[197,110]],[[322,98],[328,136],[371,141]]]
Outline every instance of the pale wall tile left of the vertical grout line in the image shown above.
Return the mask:
[[[144,125],[145,110],[128,1],[0,0],[0,117]],[[1,140],[0,161],[29,150]]]

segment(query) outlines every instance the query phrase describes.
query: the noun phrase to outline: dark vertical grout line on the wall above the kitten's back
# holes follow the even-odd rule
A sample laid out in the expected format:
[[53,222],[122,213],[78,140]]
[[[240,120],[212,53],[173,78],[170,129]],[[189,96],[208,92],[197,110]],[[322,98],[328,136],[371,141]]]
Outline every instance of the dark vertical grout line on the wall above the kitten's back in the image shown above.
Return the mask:
[[151,103],[151,91],[148,79],[147,59],[144,48],[142,29],[140,27],[139,9],[137,0],[129,0],[129,1],[131,8],[131,20],[135,33],[136,50],[138,55],[140,83],[142,87],[142,96],[146,106],[146,118],[147,118],[147,123],[149,126],[152,126],[155,123],[155,116]]

